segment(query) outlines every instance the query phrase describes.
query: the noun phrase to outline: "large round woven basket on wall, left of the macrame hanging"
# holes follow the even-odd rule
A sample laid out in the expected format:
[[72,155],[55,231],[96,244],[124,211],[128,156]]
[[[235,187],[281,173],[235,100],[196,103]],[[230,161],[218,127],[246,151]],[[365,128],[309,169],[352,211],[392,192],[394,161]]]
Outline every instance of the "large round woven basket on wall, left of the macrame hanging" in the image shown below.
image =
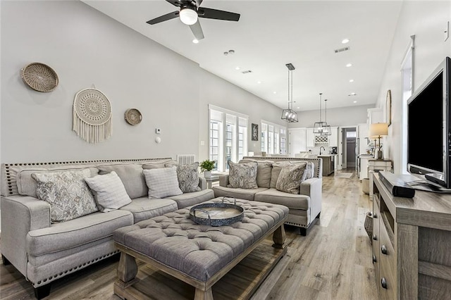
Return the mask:
[[25,85],[37,92],[51,92],[58,85],[58,75],[44,63],[30,63],[20,70]]

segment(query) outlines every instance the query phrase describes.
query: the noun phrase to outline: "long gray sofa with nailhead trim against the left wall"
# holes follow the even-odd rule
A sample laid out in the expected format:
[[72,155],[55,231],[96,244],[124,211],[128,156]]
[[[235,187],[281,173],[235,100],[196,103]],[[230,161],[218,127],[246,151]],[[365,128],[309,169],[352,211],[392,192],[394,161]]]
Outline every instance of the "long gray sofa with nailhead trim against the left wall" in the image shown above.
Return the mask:
[[[54,280],[118,253],[114,230],[214,198],[199,177],[199,192],[149,199],[143,167],[160,168],[168,161],[171,158],[2,164],[0,251],[4,264],[12,263],[40,299],[49,294]],[[31,174],[86,168],[92,175],[116,171],[132,202],[109,213],[51,223],[50,206],[37,199]]]

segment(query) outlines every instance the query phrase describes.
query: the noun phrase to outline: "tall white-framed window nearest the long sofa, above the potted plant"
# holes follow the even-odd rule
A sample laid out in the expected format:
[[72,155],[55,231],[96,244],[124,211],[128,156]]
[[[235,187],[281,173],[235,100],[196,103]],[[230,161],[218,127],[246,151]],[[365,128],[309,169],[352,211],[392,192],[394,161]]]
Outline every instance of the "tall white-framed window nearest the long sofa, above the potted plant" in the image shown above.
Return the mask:
[[209,106],[209,159],[214,170],[228,170],[228,161],[239,161],[247,153],[247,115]]

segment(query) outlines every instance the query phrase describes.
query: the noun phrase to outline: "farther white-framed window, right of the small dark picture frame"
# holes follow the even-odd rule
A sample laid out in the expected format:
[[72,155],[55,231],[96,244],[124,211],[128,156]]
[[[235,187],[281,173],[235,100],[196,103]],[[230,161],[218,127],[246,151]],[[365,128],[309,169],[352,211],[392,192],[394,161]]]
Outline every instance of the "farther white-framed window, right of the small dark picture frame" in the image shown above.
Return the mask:
[[286,154],[287,129],[261,121],[261,151],[267,154]]

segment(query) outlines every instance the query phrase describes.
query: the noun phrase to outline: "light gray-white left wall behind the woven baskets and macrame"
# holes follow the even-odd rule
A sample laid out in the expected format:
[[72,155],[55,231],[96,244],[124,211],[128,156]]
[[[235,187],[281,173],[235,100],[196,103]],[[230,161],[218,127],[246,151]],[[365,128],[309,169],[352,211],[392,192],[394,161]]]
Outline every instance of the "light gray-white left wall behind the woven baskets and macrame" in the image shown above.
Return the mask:
[[[39,93],[20,69],[56,70]],[[111,101],[113,135],[88,144],[72,131],[73,100],[95,85]],[[99,158],[206,158],[208,104],[278,123],[280,108],[226,82],[80,1],[1,1],[1,156],[4,163]],[[137,108],[142,123],[125,123]],[[161,144],[154,142],[161,128]]]

